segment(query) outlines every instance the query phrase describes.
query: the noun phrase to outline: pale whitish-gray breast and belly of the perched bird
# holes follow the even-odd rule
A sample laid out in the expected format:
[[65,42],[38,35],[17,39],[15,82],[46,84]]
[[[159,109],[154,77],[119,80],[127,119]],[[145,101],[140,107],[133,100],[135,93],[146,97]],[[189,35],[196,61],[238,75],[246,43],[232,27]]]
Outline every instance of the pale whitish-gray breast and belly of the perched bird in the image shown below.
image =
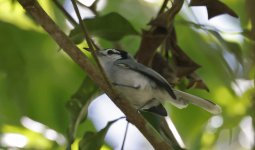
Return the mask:
[[[116,91],[123,95],[135,108],[138,109],[153,99],[156,101],[155,91],[151,85],[153,83],[141,73],[114,66],[109,75],[111,82],[116,83],[114,86]],[[158,104],[159,101],[156,101],[156,104],[153,105]]]

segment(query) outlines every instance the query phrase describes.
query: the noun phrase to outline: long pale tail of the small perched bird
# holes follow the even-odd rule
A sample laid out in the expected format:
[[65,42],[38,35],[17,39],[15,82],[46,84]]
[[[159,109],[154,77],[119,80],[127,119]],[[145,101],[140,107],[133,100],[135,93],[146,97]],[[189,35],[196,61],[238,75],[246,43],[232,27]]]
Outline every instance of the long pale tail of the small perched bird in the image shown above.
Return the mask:
[[209,100],[206,100],[206,99],[203,99],[203,98],[200,98],[195,95],[191,95],[191,94],[179,91],[179,90],[174,90],[174,93],[177,96],[178,100],[199,106],[199,107],[209,111],[212,114],[220,114],[221,113],[220,106],[209,101]]

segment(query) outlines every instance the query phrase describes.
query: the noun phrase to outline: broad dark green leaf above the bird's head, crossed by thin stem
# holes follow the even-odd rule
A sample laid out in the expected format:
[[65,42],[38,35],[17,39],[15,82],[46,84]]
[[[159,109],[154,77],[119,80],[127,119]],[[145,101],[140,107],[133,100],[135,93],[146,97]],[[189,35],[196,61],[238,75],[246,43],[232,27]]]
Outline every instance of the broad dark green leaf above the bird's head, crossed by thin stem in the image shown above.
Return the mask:
[[[127,35],[138,35],[132,24],[118,13],[110,13],[105,16],[99,16],[92,19],[84,19],[89,33],[109,41],[119,41]],[[79,26],[76,26],[69,37],[79,44],[83,41],[83,32]]]

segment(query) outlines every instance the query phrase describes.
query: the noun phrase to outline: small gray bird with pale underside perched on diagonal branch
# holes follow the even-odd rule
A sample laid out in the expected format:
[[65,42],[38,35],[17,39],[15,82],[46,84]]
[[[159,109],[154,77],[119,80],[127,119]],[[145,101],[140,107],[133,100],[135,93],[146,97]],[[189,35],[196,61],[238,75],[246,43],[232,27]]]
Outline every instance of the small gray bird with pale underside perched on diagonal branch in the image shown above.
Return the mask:
[[167,116],[162,103],[169,101],[178,108],[192,103],[212,114],[221,113],[217,104],[173,89],[160,74],[138,63],[123,50],[99,50],[97,56],[114,90],[138,110]]

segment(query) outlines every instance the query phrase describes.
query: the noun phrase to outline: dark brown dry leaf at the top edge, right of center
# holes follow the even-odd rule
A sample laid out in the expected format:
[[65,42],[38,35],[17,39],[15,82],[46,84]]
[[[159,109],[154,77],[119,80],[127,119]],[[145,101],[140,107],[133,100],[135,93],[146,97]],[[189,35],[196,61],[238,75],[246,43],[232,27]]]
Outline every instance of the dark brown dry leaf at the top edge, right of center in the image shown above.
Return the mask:
[[205,6],[208,12],[208,19],[222,14],[229,14],[238,18],[238,15],[226,4],[218,0],[191,0],[190,6]]

